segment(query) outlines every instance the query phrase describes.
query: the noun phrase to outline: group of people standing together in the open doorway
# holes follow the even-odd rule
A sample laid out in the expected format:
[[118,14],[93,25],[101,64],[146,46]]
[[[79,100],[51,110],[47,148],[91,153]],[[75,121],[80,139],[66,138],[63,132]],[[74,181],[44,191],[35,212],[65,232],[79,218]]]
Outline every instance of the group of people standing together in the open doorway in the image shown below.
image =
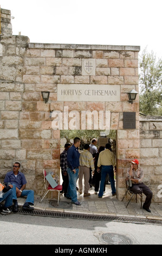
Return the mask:
[[[107,143],[105,147],[101,146],[99,149],[96,147],[98,140],[93,138],[90,145],[85,144],[83,151],[79,153],[81,140],[74,138],[74,144],[64,145],[64,151],[60,155],[60,166],[62,173],[62,193],[72,203],[81,205],[77,200],[77,186],[78,179],[78,192],[83,197],[89,197],[89,188],[94,186],[94,193],[102,198],[105,191],[106,178],[112,188],[112,196],[116,195],[114,172],[116,171],[115,156],[112,153],[111,144]],[[68,178],[67,178],[68,177]],[[84,180],[84,191],[83,190]]]

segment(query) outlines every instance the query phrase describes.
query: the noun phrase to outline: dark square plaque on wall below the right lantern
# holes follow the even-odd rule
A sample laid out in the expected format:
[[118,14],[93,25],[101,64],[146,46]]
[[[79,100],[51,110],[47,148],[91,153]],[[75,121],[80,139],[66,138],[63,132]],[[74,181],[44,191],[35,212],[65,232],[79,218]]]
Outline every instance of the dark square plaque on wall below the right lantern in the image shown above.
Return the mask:
[[123,112],[123,129],[135,129],[135,112]]

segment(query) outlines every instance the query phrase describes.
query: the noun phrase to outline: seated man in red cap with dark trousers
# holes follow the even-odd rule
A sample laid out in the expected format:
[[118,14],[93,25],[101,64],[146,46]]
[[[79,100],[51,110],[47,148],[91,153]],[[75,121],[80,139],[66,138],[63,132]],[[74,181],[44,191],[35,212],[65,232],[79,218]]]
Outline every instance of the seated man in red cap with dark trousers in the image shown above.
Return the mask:
[[[144,172],[138,166],[139,161],[137,159],[132,160],[131,167],[127,169],[127,178],[126,180],[129,181],[130,189],[133,193],[144,193],[146,196],[145,203],[143,204],[142,208],[148,212],[151,212],[149,209],[152,200],[152,191],[148,188],[143,182],[142,179],[144,178]],[[131,186],[132,185],[132,186]]]

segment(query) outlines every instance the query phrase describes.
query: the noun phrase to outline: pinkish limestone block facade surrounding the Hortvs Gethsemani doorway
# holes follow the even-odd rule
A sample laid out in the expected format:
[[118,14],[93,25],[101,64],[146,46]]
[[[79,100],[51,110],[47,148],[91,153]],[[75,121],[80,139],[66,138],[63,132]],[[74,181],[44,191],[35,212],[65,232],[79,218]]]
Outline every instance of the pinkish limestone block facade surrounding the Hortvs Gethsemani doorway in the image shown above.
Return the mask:
[[[52,130],[50,111],[85,109],[111,112],[111,129],[117,133],[118,197],[125,192],[125,166],[139,158],[139,105],[128,102],[127,92],[138,90],[138,50],[127,46],[29,44],[25,54],[24,93],[19,136],[24,162],[35,165],[36,192],[42,189],[42,169],[59,176],[60,131]],[[95,75],[82,75],[82,59],[95,59]],[[120,86],[119,102],[57,101],[57,84],[111,84]],[[49,91],[47,104],[41,92]],[[123,130],[123,112],[136,112],[136,129]],[[33,147],[34,145],[34,147]],[[40,190],[40,191],[39,191]]]

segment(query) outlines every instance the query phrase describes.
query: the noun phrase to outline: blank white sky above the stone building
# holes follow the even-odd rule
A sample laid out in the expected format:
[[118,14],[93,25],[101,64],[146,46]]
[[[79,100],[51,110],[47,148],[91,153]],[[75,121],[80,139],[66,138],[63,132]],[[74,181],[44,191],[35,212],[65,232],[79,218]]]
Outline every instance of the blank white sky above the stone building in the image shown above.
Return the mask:
[[161,0],[0,0],[12,34],[30,42],[140,46],[161,51]]

